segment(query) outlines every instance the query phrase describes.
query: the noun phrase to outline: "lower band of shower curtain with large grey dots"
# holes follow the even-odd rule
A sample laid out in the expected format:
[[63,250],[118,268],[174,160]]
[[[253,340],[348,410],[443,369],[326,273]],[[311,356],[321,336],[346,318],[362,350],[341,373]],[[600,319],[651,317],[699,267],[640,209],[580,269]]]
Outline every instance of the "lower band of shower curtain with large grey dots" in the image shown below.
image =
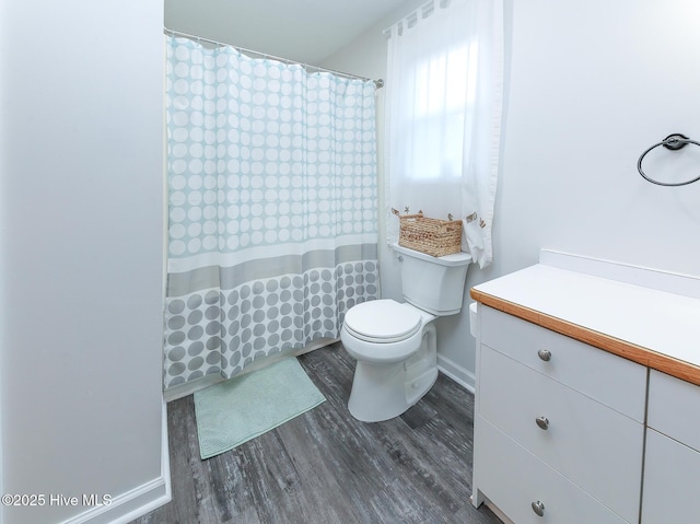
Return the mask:
[[168,296],[165,385],[210,374],[235,376],[257,359],[337,338],[346,312],[378,296],[376,259],[246,279],[228,289],[214,283]]

